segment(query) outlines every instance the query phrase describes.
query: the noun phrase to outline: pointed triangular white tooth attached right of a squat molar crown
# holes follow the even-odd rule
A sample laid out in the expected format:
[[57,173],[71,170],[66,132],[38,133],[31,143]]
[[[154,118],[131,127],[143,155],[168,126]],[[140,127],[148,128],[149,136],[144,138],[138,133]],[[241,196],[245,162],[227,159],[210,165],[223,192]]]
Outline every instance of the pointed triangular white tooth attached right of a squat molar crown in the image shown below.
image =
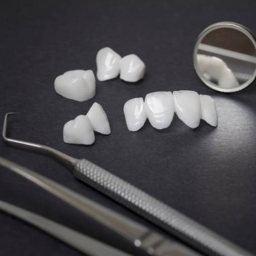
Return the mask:
[[93,103],[86,114],[95,132],[110,134],[110,125],[107,114],[99,103]]

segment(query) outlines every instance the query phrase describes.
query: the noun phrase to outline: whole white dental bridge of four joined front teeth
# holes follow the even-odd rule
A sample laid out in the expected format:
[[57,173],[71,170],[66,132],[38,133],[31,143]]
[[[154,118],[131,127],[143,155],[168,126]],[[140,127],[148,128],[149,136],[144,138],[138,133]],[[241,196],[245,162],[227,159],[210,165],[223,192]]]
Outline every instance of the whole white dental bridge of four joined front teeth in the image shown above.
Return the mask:
[[124,116],[129,131],[138,131],[146,119],[156,129],[170,126],[174,113],[187,126],[196,128],[200,119],[210,125],[218,125],[218,114],[214,100],[208,95],[199,95],[196,91],[157,91],[142,98],[128,100],[124,104]]

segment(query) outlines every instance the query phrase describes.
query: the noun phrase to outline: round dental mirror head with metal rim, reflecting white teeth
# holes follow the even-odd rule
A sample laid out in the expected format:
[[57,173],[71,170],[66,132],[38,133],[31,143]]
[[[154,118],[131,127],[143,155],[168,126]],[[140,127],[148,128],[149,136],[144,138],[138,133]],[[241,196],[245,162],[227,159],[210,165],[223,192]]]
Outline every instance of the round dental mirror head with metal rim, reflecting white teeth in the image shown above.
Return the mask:
[[242,90],[256,75],[255,37],[237,23],[215,23],[197,38],[193,61],[197,75],[210,88],[224,93]]

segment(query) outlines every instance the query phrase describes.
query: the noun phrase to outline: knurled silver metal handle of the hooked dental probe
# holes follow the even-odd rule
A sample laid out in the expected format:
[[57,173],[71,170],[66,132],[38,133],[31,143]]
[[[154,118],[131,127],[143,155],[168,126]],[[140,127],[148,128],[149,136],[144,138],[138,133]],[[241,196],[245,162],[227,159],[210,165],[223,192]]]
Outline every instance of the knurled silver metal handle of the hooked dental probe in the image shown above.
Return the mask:
[[88,160],[76,163],[74,175],[202,253],[212,256],[253,255]]

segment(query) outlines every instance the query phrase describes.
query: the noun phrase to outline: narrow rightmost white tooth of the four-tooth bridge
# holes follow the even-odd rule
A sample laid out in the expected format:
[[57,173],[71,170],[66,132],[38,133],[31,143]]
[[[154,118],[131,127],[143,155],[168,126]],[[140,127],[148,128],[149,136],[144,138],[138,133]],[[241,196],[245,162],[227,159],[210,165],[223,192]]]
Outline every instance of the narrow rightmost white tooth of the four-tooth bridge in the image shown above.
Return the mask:
[[218,125],[218,114],[214,99],[208,95],[200,95],[201,100],[201,119],[205,120],[212,126]]

